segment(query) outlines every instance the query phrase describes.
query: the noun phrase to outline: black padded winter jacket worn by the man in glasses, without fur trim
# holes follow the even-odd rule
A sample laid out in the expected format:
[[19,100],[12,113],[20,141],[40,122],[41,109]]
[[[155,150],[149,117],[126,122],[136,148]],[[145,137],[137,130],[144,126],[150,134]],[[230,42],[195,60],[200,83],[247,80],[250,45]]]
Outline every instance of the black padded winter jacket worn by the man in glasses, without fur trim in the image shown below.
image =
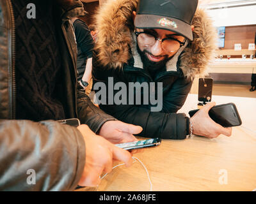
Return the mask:
[[[133,60],[131,60],[133,61]],[[189,118],[185,113],[177,113],[177,111],[185,103],[188,93],[191,89],[193,78],[185,78],[181,69],[178,71],[161,71],[157,73],[154,80],[145,69],[136,68],[133,64],[125,64],[122,71],[119,69],[107,69],[97,62],[93,62],[93,83],[104,82],[106,87],[108,84],[108,78],[113,77],[114,85],[117,82],[124,82],[126,87],[129,87],[129,83],[147,82],[148,87],[150,82],[162,82],[163,83],[163,104],[160,112],[153,112],[148,99],[149,104],[143,103],[143,97],[147,89],[141,90],[141,103],[136,105],[136,92],[134,92],[133,105],[129,105],[129,97],[127,96],[127,105],[109,105],[108,94],[106,95],[107,103],[100,105],[100,108],[104,112],[113,115],[118,120],[123,122],[136,124],[143,128],[140,136],[150,138],[164,138],[164,139],[184,139],[186,135],[189,135]],[[97,84],[96,86],[97,87]],[[114,91],[113,96],[118,94],[118,91]],[[95,89],[97,93],[97,89]],[[149,90],[148,90],[149,92]],[[147,94],[149,95],[150,93]],[[157,99],[157,89],[155,90]]]

